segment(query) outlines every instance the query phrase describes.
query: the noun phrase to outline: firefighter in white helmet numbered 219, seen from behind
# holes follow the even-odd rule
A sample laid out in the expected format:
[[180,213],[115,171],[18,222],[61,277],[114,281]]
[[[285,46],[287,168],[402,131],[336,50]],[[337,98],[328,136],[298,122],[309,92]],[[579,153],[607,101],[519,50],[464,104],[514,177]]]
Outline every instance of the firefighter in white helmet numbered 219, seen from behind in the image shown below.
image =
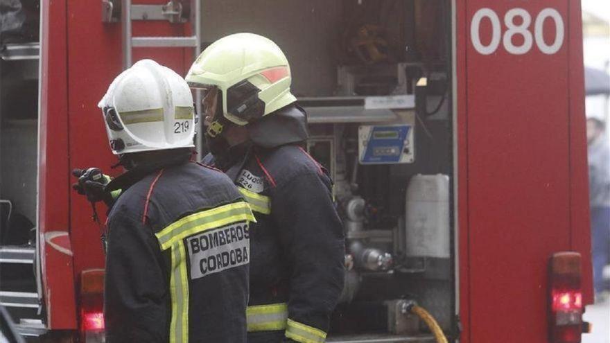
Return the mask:
[[191,161],[191,90],[142,60],[98,106],[128,169],[104,189],[121,190],[107,220],[107,342],[245,342],[254,217],[226,175]]

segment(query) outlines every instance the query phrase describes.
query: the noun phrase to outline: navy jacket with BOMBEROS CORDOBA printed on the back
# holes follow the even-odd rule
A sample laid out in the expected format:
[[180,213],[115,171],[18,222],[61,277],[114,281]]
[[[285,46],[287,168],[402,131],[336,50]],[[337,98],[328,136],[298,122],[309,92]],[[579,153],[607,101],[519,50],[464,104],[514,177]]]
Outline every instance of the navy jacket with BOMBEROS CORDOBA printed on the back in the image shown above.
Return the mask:
[[107,342],[245,342],[250,207],[218,170],[133,170],[107,221]]

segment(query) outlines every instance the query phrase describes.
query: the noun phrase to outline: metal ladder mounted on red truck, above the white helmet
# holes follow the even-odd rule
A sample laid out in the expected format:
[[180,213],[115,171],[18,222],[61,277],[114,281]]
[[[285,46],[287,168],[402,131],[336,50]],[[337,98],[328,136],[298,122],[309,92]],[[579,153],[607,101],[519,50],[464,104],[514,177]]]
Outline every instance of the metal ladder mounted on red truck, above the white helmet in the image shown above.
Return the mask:
[[[166,20],[173,24],[191,23],[191,36],[134,37],[132,21]],[[123,70],[131,67],[133,48],[193,48],[193,61],[201,51],[201,0],[170,0],[165,5],[132,5],[132,0],[102,0],[102,21],[123,26]],[[201,113],[201,91],[194,91],[195,112]],[[195,121],[197,123],[197,121]],[[198,153],[202,135],[197,135]]]

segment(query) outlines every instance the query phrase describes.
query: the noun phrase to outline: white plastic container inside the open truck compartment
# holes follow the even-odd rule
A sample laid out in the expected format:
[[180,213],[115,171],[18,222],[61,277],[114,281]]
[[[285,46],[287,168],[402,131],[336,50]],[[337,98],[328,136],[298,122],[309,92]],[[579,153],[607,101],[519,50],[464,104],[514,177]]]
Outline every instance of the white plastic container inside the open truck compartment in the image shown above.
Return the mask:
[[406,194],[406,255],[449,257],[449,177],[415,175]]

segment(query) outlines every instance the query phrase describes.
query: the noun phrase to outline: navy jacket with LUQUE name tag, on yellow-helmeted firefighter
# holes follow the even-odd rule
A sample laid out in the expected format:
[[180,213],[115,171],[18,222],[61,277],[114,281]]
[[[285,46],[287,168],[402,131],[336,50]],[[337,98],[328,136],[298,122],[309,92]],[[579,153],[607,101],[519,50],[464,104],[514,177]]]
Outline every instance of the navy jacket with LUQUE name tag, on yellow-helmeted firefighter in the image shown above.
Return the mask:
[[[251,146],[223,168],[250,203],[248,342],[324,342],[345,243],[326,170],[296,144]],[[215,165],[208,155],[204,164]]]

